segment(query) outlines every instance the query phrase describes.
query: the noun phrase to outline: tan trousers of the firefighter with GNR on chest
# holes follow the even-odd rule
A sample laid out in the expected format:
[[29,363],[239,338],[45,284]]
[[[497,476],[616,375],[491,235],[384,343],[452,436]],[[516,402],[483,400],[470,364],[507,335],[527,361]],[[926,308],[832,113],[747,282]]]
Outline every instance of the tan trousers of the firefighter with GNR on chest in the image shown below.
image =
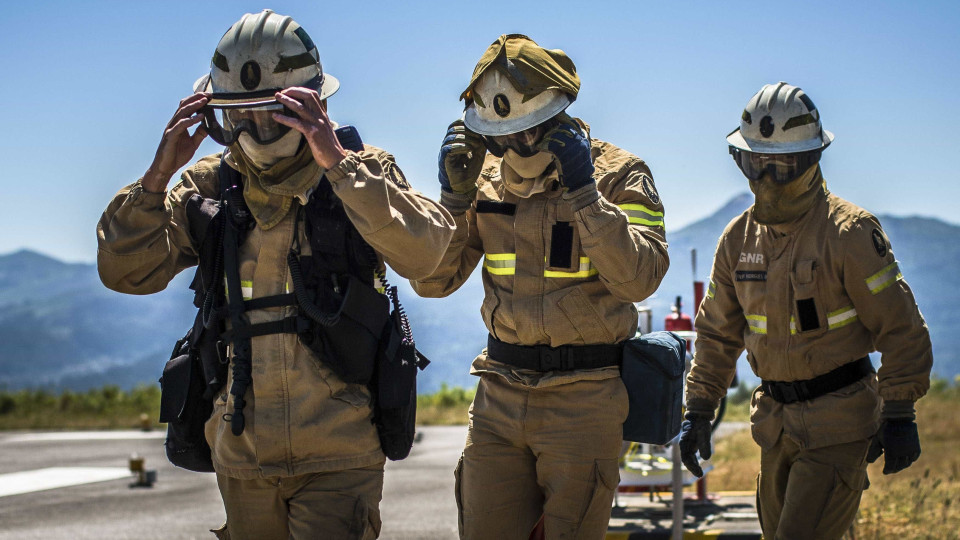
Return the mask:
[[780,435],[760,453],[757,512],[768,540],[839,539],[867,486],[868,439],[802,450]]

